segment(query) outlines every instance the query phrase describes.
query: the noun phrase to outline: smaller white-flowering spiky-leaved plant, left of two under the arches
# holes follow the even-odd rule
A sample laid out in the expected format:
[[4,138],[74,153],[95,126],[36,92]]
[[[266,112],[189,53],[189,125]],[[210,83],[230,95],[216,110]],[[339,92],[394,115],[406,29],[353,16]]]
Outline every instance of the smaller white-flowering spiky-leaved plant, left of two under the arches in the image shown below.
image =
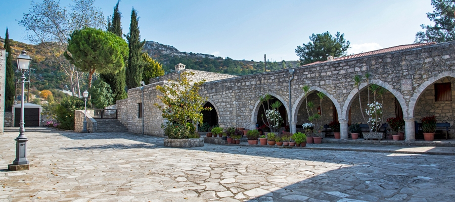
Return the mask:
[[[278,111],[278,108],[280,108],[283,104],[277,100],[275,103],[270,105],[269,100],[271,98],[270,94],[265,94],[265,96],[259,97],[259,101],[261,102],[262,109],[265,113],[265,120],[264,115],[262,115],[261,118],[262,122],[270,128],[270,132],[276,132],[280,128],[280,124],[283,123],[283,118]],[[264,104],[267,106],[267,109],[265,109]]]

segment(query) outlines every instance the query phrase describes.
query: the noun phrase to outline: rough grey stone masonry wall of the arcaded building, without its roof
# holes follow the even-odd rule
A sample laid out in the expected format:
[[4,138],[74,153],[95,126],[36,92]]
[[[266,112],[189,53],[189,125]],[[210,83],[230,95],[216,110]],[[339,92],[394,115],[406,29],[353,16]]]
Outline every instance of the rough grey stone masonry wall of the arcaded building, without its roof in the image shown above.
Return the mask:
[[[294,70],[294,79],[291,81],[291,107],[289,106],[289,80],[291,75],[287,69],[209,81],[200,88],[200,94],[207,97],[208,102],[216,109],[220,127],[254,128],[260,107],[259,96],[269,93],[283,103],[287,112],[291,111],[291,120],[295,128],[295,124],[300,124],[305,119],[301,113],[302,102],[304,102],[301,88],[306,84],[310,86],[310,90],[321,91],[327,95],[323,104],[323,113],[327,113],[328,117],[326,122],[331,120],[330,113],[333,110],[330,108],[335,106],[338,120],[342,123],[342,137],[347,138],[347,122],[351,106],[353,107],[351,110],[352,122],[363,122],[357,111],[358,90],[354,86],[353,77],[354,75],[369,73],[371,75],[370,83],[380,85],[388,90],[384,100],[384,118],[395,116],[394,98],[396,98],[406,121],[406,135],[409,135],[407,139],[413,139],[414,119],[423,116],[422,113],[426,112],[426,109],[423,110],[418,107],[427,105],[421,101],[417,102],[419,97],[421,95],[422,97],[429,97],[429,95],[425,95],[426,90],[428,88],[431,91],[431,85],[434,82],[446,77],[455,78],[455,42],[431,44],[396,52],[302,66],[294,68]],[[165,80],[171,76],[160,78]],[[152,79],[151,82],[156,81]],[[160,125],[163,120],[160,112],[152,107],[152,103],[157,102],[155,86],[162,84],[151,84],[145,87],[144,107],[147,110],[144,116],[147,134],[162,135]],[[366,93],[364,90],[366,86],[367,82],[363,78],[359,87],[363,94],[361,95],[363,103],[366,99],[364,94]],[[119,114],[123,119],[122,123],[130,131],[136,133],[142,132],[142,119],[136,118],[137,103],[140,100],[140,89],[133,88],[128,90],[127,100],[118,102],[122,106],[117,106],[119,110],[121,109]],[[434,114],[439,114],[441,118],[442,116],[450,117],[451,109],[447,108],[453,109],[454,101],[455,99],[452,99],[451,102],[434,104],[432,107]],[[441,121],[445,120],[450,121],[449,118],[441,119]],[[450,133],[453,133],[453,125],[451,128]]]

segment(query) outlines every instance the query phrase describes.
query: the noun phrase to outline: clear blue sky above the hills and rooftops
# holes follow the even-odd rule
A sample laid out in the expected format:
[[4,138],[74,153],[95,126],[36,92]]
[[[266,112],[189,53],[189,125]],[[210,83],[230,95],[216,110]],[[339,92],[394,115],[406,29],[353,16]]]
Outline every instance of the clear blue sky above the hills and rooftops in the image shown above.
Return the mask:
[[[40,2],[39,0],[35,2]],[[116,0],[97,0],[105,16]],[[71,1],[62,0],[67,6]],[[27,42],[18,25],[27,1],[2,1],[0,33]],[[140,16],[142,39],[173,45],[179,51],[235,60],[297,60],[294,49],[312,33],[337,31],[351,42],[349,54],[412,43],[421,24],[431,24],[430,0],[381,1],[126,1],[120,2],[123,32],[131,9]]]

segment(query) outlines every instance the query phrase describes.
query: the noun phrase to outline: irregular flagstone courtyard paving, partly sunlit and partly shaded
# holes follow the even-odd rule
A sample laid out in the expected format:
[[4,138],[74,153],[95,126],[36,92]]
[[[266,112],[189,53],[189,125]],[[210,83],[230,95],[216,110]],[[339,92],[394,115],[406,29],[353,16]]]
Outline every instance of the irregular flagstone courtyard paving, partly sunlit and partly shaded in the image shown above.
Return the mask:
[[9,172],[3,201],[455,201],[455,157],[205,144],[165,148],[132,133],[27,128],[33,168]]

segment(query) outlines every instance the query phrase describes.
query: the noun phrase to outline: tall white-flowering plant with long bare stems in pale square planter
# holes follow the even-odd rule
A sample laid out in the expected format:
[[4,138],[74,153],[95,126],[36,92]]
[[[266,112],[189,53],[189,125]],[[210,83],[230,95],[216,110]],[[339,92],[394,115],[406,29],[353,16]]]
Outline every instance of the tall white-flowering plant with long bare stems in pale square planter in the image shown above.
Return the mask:
[[[369,133],[363,133],[363,137],[365,139],[382,139],[382,133],[379,133],[379,129],[381,128],[382,124],[384,123],[384,114],[383,114],[383,103],[384,103],[384,93],[386,89],[376,85],[370,84],[370,74],[367,73],[365,75],[367,79],[367,90],[368,90],[368,104],[367,109],[365,109],[365,115],[363,115],[362,111],[362,103],[360,99],[360,83],[362,81],[362,77],[360,75],[354,76],[354,85],[358,91],[358,103],[360,106],[360,114],[362,115],[363,121],[368,124],[370,129]],[[370,92],[371,91],[371,92]],[[373,95],[373,99],[370,99],[370,94]],[[378,102],[377,98],[380,98],[380,102]],[[373,101],[373,102],[372,102]],[[368,120],[367,120],[368,118]]]

